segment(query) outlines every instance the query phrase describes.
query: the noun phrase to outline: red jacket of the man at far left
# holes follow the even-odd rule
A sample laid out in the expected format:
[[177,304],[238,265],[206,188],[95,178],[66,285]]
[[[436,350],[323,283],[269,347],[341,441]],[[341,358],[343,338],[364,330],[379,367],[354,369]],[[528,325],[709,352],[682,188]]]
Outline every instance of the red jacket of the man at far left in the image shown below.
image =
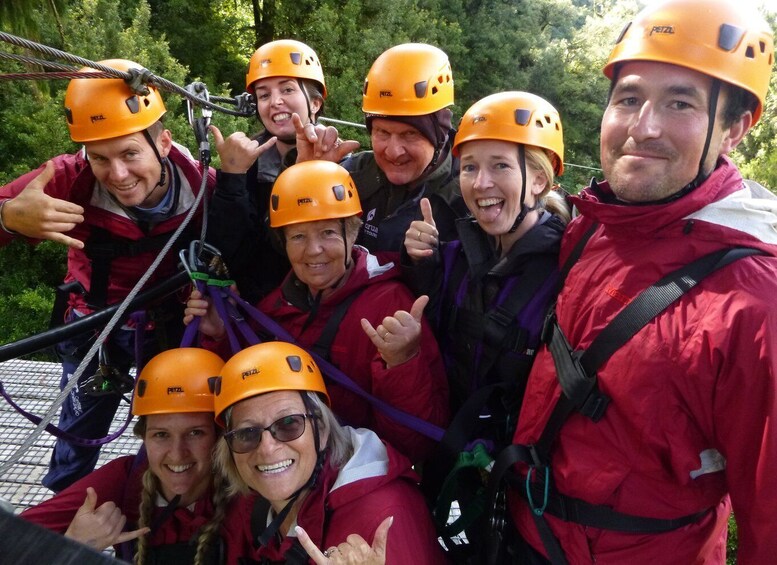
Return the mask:
[[[68,200],[84,208],[84,222],[68,232],[68,235],[75,239],[86,242],[95,227],[103,228],[111,235],[132,241],[172,233],[181,225],[186,213],[191,209],[194,199],[200,191],[202,174],[198,163],[192,161],[175,145],[173,145],[168,158],[178,169],[181,180],[178,208],[174,216],[155,225],[148,233],[144,233],[138,224],[108,197],[105,189],[97,184],[89,163],[84,159],[83,151],[74,155],[59,155],[51,159],[54,163],[54,178],[49,181],[44,190],[49,196]],[[41,166],[39,169],[24,174],[0,187],[0,200],[19,194],[42,170]],[[215,182],[215,171],[210,169],[208,187],[212,189]],[[198,212],[192,220],[192,227],[200,225],[201,216],[201,212]],[[0,230],[0,245],[9,243],[13,237]],[[142,252],[135,257],[115,258],[111,263],[107,303],[113,304],[126,297],[158,253],[159,249],[156,249]],[[76,280],[89,291],[92,269],[86,253],[82,249],[70,248],[67,257],[68,269],[65,282]],[[170,253],[152,275],[146,288],[175,273],[177,261],[178,257],[174,253]],[[90,311],[86,307],[83,297],[76,294],[71,295],[70,306],[84,313]]]

